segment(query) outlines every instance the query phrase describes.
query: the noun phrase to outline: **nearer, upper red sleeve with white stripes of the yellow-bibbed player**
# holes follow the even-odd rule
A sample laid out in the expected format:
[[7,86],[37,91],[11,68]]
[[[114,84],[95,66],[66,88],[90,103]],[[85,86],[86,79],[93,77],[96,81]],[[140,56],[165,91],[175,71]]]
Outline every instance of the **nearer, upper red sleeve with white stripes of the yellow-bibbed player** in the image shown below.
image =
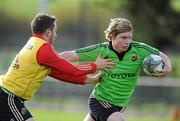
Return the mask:
[[58,72],[59,76],[61,76],[61,74],[83,76],[96,71],[96,65],[94,63],[85,65],[71,64],[69,61],[61,58],[48,43],[40,47],[36,59],[40,65],[50,68],[51,71]]

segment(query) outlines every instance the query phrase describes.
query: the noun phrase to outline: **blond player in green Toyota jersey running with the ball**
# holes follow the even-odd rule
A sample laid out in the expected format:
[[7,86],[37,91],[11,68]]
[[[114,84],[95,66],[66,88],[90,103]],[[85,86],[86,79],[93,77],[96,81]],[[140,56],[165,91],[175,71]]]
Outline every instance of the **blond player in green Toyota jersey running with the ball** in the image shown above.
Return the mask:
[[70,61],[94,61],[101,53],[103,58],[113,59],[115,68],[109,72],[101,70],[104,75],[96,84],[89,97],[90,113],[84,121],[125,121],[122,116],[124,107],[136,86],[142,62],[150,54],[160,55],[164,62],[162,76],[171,72],[171,62],[161,51],[145,43],[132,40],[133,27],[124,18],[114,18],[105,30],[108,42],[87,46],[60,55]]

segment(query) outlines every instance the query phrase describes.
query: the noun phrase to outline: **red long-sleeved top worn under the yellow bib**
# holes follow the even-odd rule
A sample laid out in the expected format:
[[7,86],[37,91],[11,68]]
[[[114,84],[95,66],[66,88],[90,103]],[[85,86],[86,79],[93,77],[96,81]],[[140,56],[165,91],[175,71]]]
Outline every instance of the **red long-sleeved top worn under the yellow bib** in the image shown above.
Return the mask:
[[[33,36],[43,39],[37,34]],[[87,78],[86,74],[94,73],[97,69],[94,63],[71,64],[69,61],[61,58],[49,43],[45,43],[39,48],[36,59],[40,65],[51,69],[49,76],[74,84],[84,84],[84,80]]]

